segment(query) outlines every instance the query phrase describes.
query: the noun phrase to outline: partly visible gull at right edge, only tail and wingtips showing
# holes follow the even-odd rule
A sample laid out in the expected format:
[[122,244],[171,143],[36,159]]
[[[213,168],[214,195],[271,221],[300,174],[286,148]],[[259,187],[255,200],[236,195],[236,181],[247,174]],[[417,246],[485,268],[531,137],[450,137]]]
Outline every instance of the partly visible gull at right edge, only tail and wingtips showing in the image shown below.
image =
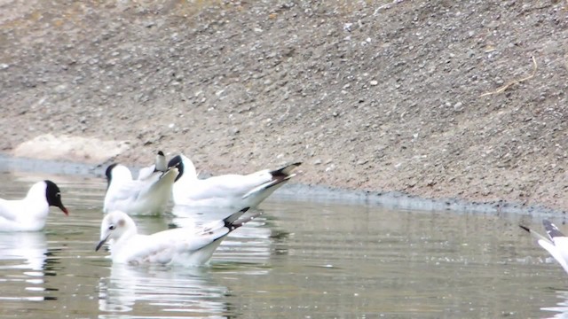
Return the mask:
[[568,273],[568,237],[558,230],[555,224],[548,220],[543,220],[542,225],[547,230],[548,237],[544,237],[534,230],[530,230],[523,225],[519,225],[523,230],[528,231],[537,239],[542,248],[546,249],[548,253],[560,263],[564,271]]

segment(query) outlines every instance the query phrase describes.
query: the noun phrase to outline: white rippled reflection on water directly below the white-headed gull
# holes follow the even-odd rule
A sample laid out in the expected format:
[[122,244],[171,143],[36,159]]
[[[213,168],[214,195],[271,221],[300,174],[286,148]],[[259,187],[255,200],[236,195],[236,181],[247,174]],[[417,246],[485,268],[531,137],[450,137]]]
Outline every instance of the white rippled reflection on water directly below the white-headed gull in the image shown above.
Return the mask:
[[99,281],[99,310],[130,312],[135,304],[146,304],[156,307],[156,312],[224,314],[227,288],[215,284],[207,270],[114,264],[110,276]]

